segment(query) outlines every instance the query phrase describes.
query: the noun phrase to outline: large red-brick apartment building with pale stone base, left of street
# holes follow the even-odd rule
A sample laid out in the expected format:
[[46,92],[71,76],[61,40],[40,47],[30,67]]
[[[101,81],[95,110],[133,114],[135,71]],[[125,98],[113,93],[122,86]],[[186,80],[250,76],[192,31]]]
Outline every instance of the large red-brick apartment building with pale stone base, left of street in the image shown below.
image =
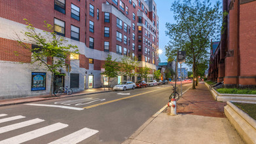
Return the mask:
[[[44,21],[65,37],[65,45],[77,45],[79,56],[69,60],[71,71],[60,69],[54,88],[68,86],[78,92],[107,84],[100,75],[111,54],[137,57],[139,67],[156,69],[158,63],[158,16],[153,0],[3,0],[0,1],[0,99],[49,94],[51,75],[31,64],[31,53],[18,48],[17,36],[26,31],[26,18],[37,28],[47,30]],[[24,37],[24,35],[20,35]],[[33,46],[33,45],[31,45]],[[16,56],[14,52],[21,53]],[[133,77],[132,81],[137,81]],[[127,80],[120,75],[115,85]]]

